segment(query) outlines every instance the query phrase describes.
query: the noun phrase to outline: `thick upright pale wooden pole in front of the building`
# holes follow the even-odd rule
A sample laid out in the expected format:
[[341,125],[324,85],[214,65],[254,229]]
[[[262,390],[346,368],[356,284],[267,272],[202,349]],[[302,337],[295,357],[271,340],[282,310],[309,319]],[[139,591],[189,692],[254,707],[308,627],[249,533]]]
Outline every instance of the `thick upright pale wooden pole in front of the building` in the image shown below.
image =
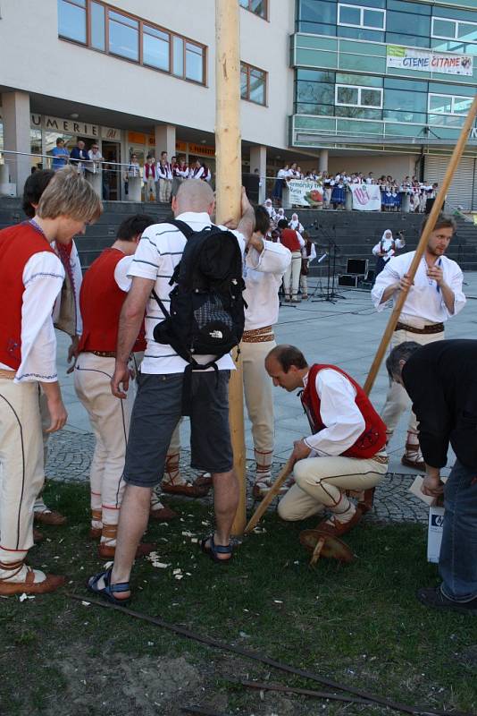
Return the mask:
[[[215,0],[215,200],[217,221],[240,217],[240,27],[237,0]],[[234,360],[237,357],[233,355]],[[232,534],[242,534],[247,522],[244,388],[240,360],[230,375],[230,433],[234,469],[240,485]]]

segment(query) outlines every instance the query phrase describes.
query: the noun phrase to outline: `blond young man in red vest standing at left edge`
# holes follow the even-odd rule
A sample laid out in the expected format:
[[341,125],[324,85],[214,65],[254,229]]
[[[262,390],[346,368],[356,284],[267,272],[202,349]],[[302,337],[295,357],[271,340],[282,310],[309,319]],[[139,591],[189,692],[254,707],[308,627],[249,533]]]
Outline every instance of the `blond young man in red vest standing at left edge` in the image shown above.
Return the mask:
[[[33,505],[44,480],[38,388],[50,426],[67,420],[56,373],[52,311],[64,279],[51,243],[68,244],[102,211],[94,190],[72,167],[58,171],[35,217],[0,231],[0,595],[53,592],[63,576],[25,564],[33,545]],[[39,384],[39,385],[38,385]]]

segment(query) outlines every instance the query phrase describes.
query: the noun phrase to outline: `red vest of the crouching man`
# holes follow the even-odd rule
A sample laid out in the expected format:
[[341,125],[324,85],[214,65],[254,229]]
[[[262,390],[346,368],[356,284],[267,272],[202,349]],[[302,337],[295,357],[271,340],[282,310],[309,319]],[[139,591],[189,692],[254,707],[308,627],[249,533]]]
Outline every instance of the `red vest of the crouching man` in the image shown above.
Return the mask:
[[325,368],[332,368],[333,371],[341,373],[341,375],[344,375],[345,378],[349,380],[351,385],[356,389],[355,403],[364,418],[363,432],[355,444],[348,447],[346,452],[342,453],[342,455],[366,458],[379,453],[386,445],[386,425],[381,421],[380,416],[372,407],[371,401],[364,393],[363,388],[356,383],[356,380],[352,379],[345,371],[341,371],[336,365],[315,363],[310,368],[306,388],[301,394],[301,402],[305,408],[310,428],[316,433],[326,427],[324,422],[322,422],[320,412],[322,401],[316,392],[316,376]]

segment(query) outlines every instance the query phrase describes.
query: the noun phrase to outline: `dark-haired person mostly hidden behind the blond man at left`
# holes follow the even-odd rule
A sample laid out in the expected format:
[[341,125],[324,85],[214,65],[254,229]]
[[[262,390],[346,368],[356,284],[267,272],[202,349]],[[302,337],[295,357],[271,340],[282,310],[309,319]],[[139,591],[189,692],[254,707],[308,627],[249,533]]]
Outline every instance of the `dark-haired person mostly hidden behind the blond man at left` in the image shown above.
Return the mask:
[[[53,177],[54,171],[51,169],[43,169],[29,176],[25,182],[22,208],[30,219],[35,216],[41,195]],[[54,328],[64,331],[71,337],[71,346],[68,350],[68,362],[71,362],[78,347],[79,336],[82,330],[81,314],[79,311],[79,289],[83,275],[79,263],[78,250],[74,241],[67,244],[53,242],[51,247],[61,260],[64,269],[62,290],[54,303]],[[73,367],[74,366],[71,366],[68,370],[69,373],[71,373]],[[49,427],[50,421],[46,396],[42,392],[39,394],[39,406],[43,428],[43,457],[45,467],[48,457],[47,444],[49,439],[49,433],[46,432],[46,430]],[[66,517],[46,507],[42,491],[40,491],[35,500],[33,511],[37,522],[54,525],[66,523]]]

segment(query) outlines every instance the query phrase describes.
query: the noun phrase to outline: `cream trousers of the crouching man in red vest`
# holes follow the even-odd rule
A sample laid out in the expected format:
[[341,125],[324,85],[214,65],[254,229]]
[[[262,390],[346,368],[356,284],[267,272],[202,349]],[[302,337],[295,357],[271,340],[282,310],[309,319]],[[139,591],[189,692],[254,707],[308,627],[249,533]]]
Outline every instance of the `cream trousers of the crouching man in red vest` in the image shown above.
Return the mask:
[[344,456],[307,457],[293,468],[295,484],[280,499],[283,520],[305,520],[326,507],[339,518],[346,511],[346,490],[370,490],[381,482],[388,463]]

